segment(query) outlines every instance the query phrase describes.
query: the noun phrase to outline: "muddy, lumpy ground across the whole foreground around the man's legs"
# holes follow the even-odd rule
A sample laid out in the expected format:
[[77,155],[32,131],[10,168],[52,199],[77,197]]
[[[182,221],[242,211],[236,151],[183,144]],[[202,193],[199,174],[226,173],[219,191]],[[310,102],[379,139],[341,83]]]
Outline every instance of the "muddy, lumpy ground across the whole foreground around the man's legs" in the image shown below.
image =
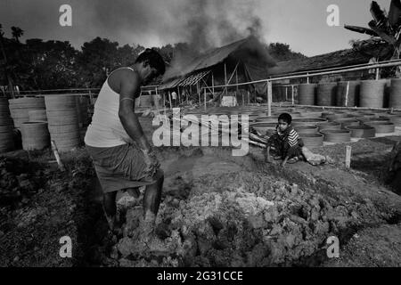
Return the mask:
[[[352,143],[351,169],[344,145],[315,149],[333,165],[284,169],[266,165],[258,148],[241,158],[223,148],[160,148],[166,178],[156,235],[146,242],[132,199],[122,211],[124,236],[108,235],[85,149],[61,156],[65,173],[49,163],[50,151],[14,154],[0,160],[8,183],[0,265],[399,266],[401,197],[384,171],[390,141],[399,139]],[[59,256],[64,235],[73,258]],[[326,255],[330,236],[340,239],[340,258]]]

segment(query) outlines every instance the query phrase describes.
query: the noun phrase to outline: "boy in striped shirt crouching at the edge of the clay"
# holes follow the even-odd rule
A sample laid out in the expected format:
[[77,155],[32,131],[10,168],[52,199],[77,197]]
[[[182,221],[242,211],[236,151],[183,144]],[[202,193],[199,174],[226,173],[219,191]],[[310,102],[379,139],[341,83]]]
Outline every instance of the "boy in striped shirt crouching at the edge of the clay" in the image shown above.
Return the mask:
[[276,156],[274,159],[283,159],[282,167],[288,163],[297,162],[302,159],[301,148],[304,146],[299,134],[291,126],[291,115],[282,113],[278,118],[278,125],[274,134],[267,141],[266,162],[271,162],[270,149],[273,146]]

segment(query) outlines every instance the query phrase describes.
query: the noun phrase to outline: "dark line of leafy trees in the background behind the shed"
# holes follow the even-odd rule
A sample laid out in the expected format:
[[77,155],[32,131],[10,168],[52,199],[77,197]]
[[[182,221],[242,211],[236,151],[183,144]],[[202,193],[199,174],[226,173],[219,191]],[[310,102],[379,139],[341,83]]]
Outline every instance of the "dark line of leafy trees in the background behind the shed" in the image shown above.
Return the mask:
[[[12,37],[5,37],[0,24],[0,85],[19,85],[20,90],[98,88],[111,70],[134,63],[143,45],[122,45],[95,37],[77,50],[68,41],[39,38],[20,42],[24,31],[12,27]],[[153,47],[169,64],[175,54],[189,58],[200,55],[187,43]],[[305,58],[291,51],[290,45],[266,45],[276,61]]]

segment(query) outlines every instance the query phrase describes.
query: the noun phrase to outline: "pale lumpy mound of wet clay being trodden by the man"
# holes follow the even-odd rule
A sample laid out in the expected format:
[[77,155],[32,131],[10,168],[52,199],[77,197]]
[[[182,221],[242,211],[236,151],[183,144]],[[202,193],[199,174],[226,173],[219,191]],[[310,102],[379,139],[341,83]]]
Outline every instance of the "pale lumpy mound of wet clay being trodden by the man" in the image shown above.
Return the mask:
[[141,208],[128,209],[119,265],[321,265],[331,235],[346,242],[400,217],[400,197],[345,171],[202,151],[168,162],[157,238],[142,240]]

